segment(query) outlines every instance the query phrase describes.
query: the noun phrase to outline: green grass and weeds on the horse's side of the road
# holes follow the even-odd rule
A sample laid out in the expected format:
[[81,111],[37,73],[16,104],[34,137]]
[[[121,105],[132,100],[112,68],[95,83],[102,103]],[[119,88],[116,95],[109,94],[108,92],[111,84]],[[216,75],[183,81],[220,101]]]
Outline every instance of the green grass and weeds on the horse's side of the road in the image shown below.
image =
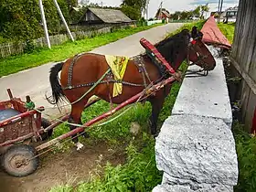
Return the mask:
[[[185,27],[191,29],[194,25],[200,28],[202,27],[202,22],[188,24]],[[185,27],[178,29],[175,33]],[[184,62],[180,69],[185,71],[187,64]],[[158,127],[160,127],[171,114],[180,86],[180,82],[174,83],[171,92],[165,98],[164,107],[159,115]],[[82,122],[86,122],[109,109],[109,103],[99,101],[82,113]],[[130,111],[123,114],[122,120],[117,119],[101,127],[91,128],[89,130],[91,138],[83,142],[89,142],[90,140],[105,141],[108,144],[112,144],[112,147],[126,146],[124,150],[126,155],[125,164],[114,166],[108,163],[103,167],[99,165],[100,168],[94,170],[94,174],[91,175],[89,180],[80,182],[76,186],[62,185],[53,187],[50,192],[152,191],[153,187],[161,183],[163,173],[158,171],[155,165],[155,140],[148,130],[148,118],[150,114],[151,105],[148,102],[144,105],[139,103]],[[141,126],[141,131],[137,136],[133,136],[132,133],[130,133],[132,122],[139,123]],[[61,125],[58,132],[54,133],[54,136],[66,133],[67,131],[69,131],[69,129],[65,125]]]

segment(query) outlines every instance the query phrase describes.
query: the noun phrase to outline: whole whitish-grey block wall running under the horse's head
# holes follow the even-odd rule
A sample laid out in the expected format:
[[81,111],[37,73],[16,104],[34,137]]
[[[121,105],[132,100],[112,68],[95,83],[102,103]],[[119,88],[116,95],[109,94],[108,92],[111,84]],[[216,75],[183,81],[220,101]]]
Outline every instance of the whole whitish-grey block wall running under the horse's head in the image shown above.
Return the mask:
[[222,60],[216,61],[207,77],[187,75],[182,83],[172,115],[156,138],[156,165],[164,176],[154,192],[227,192],[237,185],[229,93]]

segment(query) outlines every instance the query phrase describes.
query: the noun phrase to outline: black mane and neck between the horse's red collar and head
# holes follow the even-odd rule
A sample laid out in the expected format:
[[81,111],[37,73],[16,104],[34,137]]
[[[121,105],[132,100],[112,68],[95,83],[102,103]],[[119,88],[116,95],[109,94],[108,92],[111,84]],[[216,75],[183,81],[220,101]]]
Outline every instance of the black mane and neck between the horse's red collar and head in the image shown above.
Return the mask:
[[183,29],[176,35],[166,37],[164,40],[156,43],[155,48],[157,48],[161,55],[171,65],[174,65],[177,57],[180,56],[180,54],[183,54],[183,57],[187,56],[187,45],[189,36],[189,30]]

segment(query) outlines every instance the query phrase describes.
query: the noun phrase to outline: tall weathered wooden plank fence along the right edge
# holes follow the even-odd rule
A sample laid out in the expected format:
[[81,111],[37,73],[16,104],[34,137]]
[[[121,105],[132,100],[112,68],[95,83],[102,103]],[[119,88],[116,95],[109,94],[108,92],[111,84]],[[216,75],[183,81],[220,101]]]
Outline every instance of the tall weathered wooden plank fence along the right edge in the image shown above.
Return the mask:
[[231,61],[242,77],[240,104],[247,131],[256,131],[256,1],[240,0]]

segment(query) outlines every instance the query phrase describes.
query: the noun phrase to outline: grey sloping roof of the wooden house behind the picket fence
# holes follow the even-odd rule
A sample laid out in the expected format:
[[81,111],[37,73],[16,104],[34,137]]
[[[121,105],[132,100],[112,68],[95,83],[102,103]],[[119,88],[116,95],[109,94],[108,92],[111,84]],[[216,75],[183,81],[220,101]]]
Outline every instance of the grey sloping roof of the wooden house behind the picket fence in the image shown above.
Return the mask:
[[87,11],[91,11],[94,15],[98,16],[105,23],[122,23],[132,21],[131,18],[125,16],[122,11],[116,9],[89,7]]

